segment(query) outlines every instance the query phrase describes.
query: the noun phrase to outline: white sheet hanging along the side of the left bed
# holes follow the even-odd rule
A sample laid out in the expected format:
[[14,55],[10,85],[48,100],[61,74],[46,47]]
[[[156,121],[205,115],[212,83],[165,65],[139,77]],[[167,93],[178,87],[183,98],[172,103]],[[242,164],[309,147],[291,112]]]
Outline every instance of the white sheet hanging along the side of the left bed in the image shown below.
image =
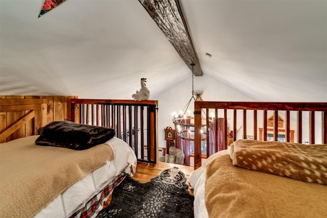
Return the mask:
[[106,185],[116,179],[122,172],[131,174],[131,168],[135,172],[136,156],[128,144],[113,137],[106,142],[113,150],[114,159],[107,161],[105,165],[89,173],[83,179],[66,189],[56,197],[45,208],[35,215],[36,218],[43,217],[69,217],[82,207],[85,203]]

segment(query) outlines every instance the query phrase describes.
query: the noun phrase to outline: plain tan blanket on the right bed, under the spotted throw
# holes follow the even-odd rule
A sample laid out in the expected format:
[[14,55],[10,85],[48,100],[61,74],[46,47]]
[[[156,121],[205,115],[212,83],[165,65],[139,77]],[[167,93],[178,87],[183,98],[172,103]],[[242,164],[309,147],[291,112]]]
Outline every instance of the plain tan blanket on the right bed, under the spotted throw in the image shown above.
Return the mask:
[[327,186],[233,166],[229,155],[206,167],[209,217],[327,217]]

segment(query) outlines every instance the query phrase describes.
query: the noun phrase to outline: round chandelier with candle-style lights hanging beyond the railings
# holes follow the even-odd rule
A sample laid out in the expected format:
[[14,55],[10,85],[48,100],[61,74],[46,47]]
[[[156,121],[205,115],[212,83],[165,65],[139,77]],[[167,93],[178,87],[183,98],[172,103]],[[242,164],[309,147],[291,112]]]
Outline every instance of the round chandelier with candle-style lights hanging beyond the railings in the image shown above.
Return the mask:
[[[203,93],[202,90],[200,91],[194,91],[194,65],[192,66],[192,95],[188,103],[184,106],[182,110],[179,111],[177,114],[176,112],[172,113],[173,116],[173,123],[175,125],[175,131],[176,131],[176,147],[184,147],[185,144],[188,144],[191,149],[191,153],[194,151],[194,116],[193,113],[191,114],[191,111],[189,110],[189,106],[193,101],[202,101],[201,94]],[[196,95],[196,97],[194,96]],[[202,113],[205,116],[204,111],[202,110]],[[207,134],[207,128],[210,130],[212,127],[214,120],[212,118],[209,118],[208,124],[206,124],[206,119],[202,117],[201,119],[201,141],[202,143],[206,141],[206,134]],[[202,146],[203,148],[203,146]]]

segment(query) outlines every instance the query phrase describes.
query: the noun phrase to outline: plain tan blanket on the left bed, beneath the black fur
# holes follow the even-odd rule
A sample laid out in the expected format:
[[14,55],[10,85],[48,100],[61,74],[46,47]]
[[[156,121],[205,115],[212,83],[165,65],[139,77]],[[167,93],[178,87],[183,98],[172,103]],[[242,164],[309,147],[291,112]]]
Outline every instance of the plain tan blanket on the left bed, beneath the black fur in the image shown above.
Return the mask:
[[0,214],[31,217],[67,187],[113,159],[107,144],[87,150],[37,146],[29,136],[0,144]]

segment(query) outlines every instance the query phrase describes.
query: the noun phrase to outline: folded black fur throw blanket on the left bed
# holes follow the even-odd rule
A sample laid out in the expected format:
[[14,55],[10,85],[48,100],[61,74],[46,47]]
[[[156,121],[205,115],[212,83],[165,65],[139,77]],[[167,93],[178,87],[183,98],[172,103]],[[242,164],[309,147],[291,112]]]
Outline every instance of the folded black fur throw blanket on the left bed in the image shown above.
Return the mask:
[[70,121],[55,121],[38,129],[40,135],[35,143],[39,146],[55,146],[85,150],[102,144],[115,135],[115,130],[106,127],[77,124]]

